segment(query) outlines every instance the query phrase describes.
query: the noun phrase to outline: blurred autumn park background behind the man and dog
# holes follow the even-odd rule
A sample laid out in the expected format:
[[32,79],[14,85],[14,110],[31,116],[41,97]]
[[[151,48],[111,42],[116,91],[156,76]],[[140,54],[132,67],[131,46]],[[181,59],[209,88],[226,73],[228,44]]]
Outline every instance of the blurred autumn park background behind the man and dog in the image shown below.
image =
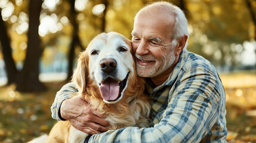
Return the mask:
[[[0,142],[26,142],[55,123],[50,106],[94,36],[131,39],[150,0],[0,0]],[[189,51],[216,67],[228,142],[256,142],[256,0],[169,0],[189,21]]]

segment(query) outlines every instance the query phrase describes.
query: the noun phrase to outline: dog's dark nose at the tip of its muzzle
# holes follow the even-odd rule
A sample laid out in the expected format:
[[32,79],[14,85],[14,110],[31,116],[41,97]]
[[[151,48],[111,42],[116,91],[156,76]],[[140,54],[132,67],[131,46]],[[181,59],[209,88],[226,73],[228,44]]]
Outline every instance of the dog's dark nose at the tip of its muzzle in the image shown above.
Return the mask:
[[101,70],[111,72],[116,69],[116,60],[113,58],[103,58],[100,61]]

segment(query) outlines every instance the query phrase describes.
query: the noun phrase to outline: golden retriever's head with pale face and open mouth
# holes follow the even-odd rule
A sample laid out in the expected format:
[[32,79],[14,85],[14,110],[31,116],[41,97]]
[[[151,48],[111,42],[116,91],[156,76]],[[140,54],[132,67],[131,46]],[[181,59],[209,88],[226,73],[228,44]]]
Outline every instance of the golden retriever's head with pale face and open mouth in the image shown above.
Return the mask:
[[115,103],[136,74],[134,69],[131,42],[115,32],[101,33],[79,55],[73,81],[81,92],[96,83],[104,102]]

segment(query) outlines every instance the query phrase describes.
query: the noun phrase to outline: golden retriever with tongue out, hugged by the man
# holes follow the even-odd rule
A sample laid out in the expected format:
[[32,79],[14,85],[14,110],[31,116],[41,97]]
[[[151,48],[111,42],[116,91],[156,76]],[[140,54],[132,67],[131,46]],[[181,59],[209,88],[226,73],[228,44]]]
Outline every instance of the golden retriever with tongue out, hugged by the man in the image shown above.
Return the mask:
[[[150,104],[138,77],[131,42],[116,32],[101,33],[79,55],[72,81],[91,108],[106,114],[109,129],[149,127]],[[84,142],[87,133],[69,121],[54,125],[47,142]]]

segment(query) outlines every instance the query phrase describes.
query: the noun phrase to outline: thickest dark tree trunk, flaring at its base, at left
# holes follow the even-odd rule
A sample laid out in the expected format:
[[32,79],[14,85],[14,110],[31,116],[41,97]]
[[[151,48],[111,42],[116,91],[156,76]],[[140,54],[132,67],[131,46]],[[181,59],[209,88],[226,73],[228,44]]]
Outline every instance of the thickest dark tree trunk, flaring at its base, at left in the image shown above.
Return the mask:
[[21,74],[17,78],[17,91],[45,91],[45,86],[39,81],[39,58],[42,54],[38,35],[39,16],[42,0],[33,0],[29,4],[29,31],[27,32],[26,59]]

